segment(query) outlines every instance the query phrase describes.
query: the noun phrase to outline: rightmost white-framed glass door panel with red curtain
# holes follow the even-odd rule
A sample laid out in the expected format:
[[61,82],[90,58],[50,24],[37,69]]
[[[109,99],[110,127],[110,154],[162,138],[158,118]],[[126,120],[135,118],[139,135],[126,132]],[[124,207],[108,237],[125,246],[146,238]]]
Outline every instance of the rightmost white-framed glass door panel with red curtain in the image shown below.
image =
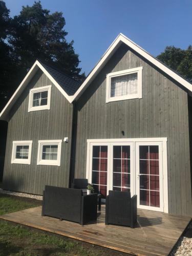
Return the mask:
[[163,211],[161,142],[136,142],[136,194],[139,208]]

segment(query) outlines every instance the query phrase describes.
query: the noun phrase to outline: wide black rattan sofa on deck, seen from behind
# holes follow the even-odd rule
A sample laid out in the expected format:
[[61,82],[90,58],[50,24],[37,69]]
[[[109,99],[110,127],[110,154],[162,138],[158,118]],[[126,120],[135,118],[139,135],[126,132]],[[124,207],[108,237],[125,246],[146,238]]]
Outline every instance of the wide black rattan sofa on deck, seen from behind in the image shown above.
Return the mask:
[[81,189],[46,186],[41,215],[81,225],[96,221],[97,194],[83,196]]

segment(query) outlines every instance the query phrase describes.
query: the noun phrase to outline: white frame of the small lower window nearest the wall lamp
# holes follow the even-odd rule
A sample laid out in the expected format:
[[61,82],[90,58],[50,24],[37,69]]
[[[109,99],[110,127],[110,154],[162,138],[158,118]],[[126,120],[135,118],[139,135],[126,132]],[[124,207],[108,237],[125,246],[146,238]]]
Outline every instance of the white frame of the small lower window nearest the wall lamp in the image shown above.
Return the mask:
[[[37,153],[37,165],[57,165],[60,166],[61,158],[61,143],[62,140],[39,140],[38,141],[38,153]],[[57,145],[57,160],[45,160],[42,159],[42,146],[44,145]]]

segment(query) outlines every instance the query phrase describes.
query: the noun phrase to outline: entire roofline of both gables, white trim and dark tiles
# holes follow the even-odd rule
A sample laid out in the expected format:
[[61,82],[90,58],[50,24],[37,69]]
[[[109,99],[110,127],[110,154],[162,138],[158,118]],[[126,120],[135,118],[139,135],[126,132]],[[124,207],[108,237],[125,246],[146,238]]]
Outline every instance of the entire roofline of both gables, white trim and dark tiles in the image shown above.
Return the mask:
[[10,98],[5,108],[0,113],[0,120],[7,120],[7,114],[12,108],[15,101],[18,99],[20,94],[24,91],[28,82],[31,80],[36,71],[40,68],[42,72],[44,72],[47,77],[53,82],[53,84],[57,87],[57,89],[61,92],[66,99],[72,103],[74,100],[78,100],[78,98],[82,95],[82,93],[88,88],[90,83],[94,80],[106,62],[111,58],[111,56],[115,53],[115,51],[120,47],[121,44],[125,44],[133,49],[135,52],[140,54],[146,60],[151,62],[158,69],[163,71],[168,76],[172,77],[175,81],[181,84],[183,88],[186,88],[188,92],[192,92],[192,84],[183,78],[181,75],[164,65],[160,60],[152,56],[150,53],[146,52],[143,48],[135,44],[132,40],[124,36],[123,34],[119,34],[116,39],[112,42],[111,46],[105,51],[101,59],[98,61],[93,70],[89,73],[87,78],[80,83],[70,78],[69,76],[59,72],[55,68],[48,66],[45,63],[42,63],[39,60],[36,60],[30,71],[27,73],[26,77],[20,83],[19,87]]

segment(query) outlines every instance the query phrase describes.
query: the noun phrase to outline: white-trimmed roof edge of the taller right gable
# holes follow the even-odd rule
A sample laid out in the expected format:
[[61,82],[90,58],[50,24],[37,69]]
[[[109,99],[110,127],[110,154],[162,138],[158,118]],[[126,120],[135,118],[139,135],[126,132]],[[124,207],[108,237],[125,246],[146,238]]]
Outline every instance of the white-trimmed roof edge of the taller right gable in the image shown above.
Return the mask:
[[138,54],[143,56],[146,60],[150,61],[153,65],[155,65],[158,69],[162,70],[165,74],[172,77],[175,81],[179,82],[184,88],[186,88],[189,92],[192,92],[192,84],[184,79],[182,76],[177,74],[175,71],[164,65],[157,58],[153,57],[150,53],[146,52],[140,46],[135,44],[132,40],[124,36],[123,34],[119,34],[116,39],[112,42],[111,46],[106,50],[103,54],[95,68],[90,72],[87,76],[86,80],[81,84],[79,89],[75,92],[71,100],[77,100],[81,94],[87,89],[89,84],[93,81],[99,71],[103,68],[105,63],[110,59],[110,57],[114,54],[114,52],[119,48],[119,46],[124,43],[129,46],[131,49],[136,51]]

